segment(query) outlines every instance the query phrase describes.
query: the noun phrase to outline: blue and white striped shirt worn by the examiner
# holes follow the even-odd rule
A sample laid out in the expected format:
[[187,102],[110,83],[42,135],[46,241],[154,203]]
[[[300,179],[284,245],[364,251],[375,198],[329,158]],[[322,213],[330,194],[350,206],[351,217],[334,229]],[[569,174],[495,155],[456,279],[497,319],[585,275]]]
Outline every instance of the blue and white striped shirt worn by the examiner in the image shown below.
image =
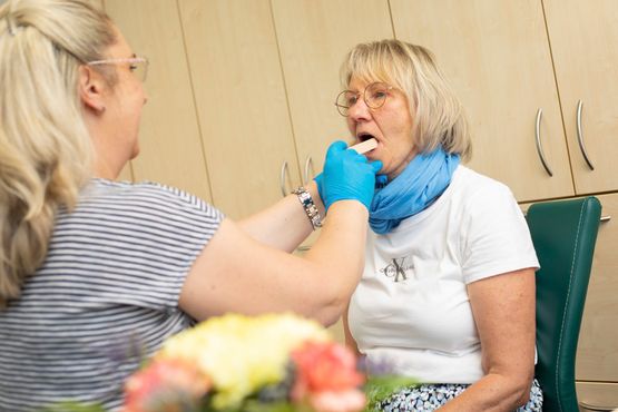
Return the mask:
[[0,411],[65,400],[117,410],[144,357],[194,323],[179,293],[222,219],[178,189],[92,179],[0,311]]

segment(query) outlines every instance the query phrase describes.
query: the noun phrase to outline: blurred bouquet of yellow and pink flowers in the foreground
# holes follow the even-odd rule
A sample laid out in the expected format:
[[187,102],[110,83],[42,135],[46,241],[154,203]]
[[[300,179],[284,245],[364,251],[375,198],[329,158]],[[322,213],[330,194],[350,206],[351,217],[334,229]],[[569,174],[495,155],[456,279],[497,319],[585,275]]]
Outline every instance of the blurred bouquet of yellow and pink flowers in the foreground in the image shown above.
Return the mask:
[[229,314],[169,339],[127,381],[122,412],[356,412],[364,381],[314,321]]

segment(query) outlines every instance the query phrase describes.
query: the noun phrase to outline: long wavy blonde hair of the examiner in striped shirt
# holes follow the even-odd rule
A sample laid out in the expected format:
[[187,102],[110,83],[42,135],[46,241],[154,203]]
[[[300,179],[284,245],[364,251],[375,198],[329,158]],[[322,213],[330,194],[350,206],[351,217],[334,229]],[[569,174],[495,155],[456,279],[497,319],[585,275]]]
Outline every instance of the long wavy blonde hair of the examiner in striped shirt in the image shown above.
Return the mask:
[[116,42],[88,0],[0,6],[0,307],[43,262],[56,213],[91,175],[79,66]]

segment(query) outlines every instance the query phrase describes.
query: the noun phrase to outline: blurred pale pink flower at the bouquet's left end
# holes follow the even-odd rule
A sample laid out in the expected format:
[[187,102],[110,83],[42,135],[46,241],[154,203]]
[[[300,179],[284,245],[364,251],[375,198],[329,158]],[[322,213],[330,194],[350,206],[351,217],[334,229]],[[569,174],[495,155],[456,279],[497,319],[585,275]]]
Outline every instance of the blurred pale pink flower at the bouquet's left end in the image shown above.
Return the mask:
[[195,366],[177,360],[156,360],[125,384],[122,412],[180,411],[183,404],[198,404],[209,388],[209,380]]

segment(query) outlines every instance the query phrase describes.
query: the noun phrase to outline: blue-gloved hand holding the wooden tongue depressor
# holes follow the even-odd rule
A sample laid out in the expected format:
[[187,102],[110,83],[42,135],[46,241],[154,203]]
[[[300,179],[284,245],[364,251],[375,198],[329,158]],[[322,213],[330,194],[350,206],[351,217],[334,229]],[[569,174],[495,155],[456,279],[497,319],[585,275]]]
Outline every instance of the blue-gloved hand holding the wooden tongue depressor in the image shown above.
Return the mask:
[[375,188],[375,174],[382,161],[369,163],[344,141],[333,143],[326,151],[324,171],[315,177],[326,212],[337,200],[359,200],[369,209]]

